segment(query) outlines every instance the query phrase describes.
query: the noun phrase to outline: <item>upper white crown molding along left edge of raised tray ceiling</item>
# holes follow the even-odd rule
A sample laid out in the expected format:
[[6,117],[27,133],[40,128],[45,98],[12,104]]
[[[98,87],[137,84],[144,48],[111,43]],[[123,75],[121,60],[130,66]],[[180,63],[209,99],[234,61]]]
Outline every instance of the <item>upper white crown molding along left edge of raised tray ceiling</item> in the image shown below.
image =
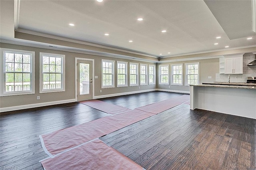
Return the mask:
[[99,44],[95,44],[95,43],[89,43],[89,42],[83,42],[83,41],[79,41],[79,40],[73,40],[73,39],[69,39],[69,38],[63,38],[63,37],[58,37],[58,36],[52,36],[49,34],[43,34],[43,33],[38,33],[38,32],[33,32],[33,31],[28,31],[28,30],[23,30],[18,28],[16,30],[16,32],[22,32],[22,33],[26,33],[26,34],[31,34],[34,36],[42,36],[42,37],[46,37],[46,38],[53,38],[56,40],[62,40],[62,41],[67,41],[67,42],[73,42],[73,43],[80,43],[80,44],[84,44],[84,45],[90,45],[90,46],[94,46],[94,47],[100,47],[100,48],[105,48],[105,49],[111,49],[111,50],[116,50],[116,51],[121,51],[121,52],[126,52],[126,53],[132,53],[132,54],[136,54],[136,55],[143,55],[146,57],[152,57],[152,58],[158,58],[156,56],[153,55],[146,55],[143,53],[136,53],[133,51],[128,51],[128,50],[124,50],[124,49],[118,49],[118,48],[114,48],[114,47],[108,47],[105,45],[99,45]]

